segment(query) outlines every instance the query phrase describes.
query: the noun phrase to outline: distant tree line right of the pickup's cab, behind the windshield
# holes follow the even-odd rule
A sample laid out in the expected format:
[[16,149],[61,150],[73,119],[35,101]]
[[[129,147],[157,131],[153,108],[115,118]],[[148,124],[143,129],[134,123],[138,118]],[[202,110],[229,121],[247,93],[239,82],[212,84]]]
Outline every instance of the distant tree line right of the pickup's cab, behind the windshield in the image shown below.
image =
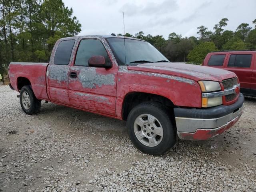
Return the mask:
[[[255,50],[256,19],[252,21],[254,28],[248,23],[240,24],[235,31],[224,30],[228,19],[223,18],[214,25],[213,31],[205,26],[197,28],[198,37],[182,37],[172,32],[166,40],[162,35],[145,35],[142,31],[125,36],[146,40],[154,45],[171,62],[188,62],[202,64],[206,54],[218,50]],[[122,35],[122,34],[118,34]]]

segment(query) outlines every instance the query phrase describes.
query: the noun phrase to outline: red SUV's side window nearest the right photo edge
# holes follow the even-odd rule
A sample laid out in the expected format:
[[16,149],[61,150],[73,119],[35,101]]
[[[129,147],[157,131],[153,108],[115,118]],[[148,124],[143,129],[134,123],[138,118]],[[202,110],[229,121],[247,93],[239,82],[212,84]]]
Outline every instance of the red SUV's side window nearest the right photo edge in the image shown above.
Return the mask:
[[252,55],[231,55],[228,61],[229,67],[250,68]]

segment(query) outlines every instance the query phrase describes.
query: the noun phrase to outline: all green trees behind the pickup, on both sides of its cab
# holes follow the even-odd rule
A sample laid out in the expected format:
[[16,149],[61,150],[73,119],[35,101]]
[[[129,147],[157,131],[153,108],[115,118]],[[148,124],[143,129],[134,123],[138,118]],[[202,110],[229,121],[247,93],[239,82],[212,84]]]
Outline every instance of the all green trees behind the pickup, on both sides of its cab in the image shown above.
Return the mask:
[[[62,0],[0,0],[0,74],[6,74],[12,61],[48,62],[59,38],[81,31],[72,14],[72,8],[65,7]],[[198,37],[172,32],[166,40],[142,31],[125,36],[150,42],[172,62],[200,64],[211,51],[256,49],[256,20],[254,28],[242,23],[235,31],[224,30],[227,24],[228,19],[223,18],[213,31],[199,26]]]

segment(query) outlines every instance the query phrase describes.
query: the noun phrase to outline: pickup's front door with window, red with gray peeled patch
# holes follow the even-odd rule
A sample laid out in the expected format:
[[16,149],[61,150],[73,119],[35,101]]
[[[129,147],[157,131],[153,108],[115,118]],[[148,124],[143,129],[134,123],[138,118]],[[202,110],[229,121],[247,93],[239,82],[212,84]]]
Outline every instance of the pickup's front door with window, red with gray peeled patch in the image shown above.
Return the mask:
[[112,62],[106,51],[110,49],[105,47],[106,42],[105,46],[102,44],[102,40],[104,39],[80,40],[68,77],[70,105],[116,116],[116,62],[109,69],[88,66],[89,58],[96,55],[104,56],[106,62]]

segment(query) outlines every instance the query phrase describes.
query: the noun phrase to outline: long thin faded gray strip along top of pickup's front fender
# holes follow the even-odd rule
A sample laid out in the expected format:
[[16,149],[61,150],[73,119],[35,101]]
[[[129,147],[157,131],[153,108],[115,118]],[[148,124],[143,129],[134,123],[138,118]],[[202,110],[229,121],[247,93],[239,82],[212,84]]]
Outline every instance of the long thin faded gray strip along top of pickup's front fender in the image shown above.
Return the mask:
[[167,74],[162,74],[162,73],[152,73],[152,72],[128,70],[127,66],[119,66],[119,72],[132,73],[132,74],[141,74],[141,75],[146,75],[146,76],[162,77],[162,78],[167,78],[167,79],[171,79],[171,80],[176,80],[178,82],[188,83],[190,85],[196,84],[195,81],[187,79],[187,78],[183,78],[183,77],[172,76],[172,75],[167,75]]

